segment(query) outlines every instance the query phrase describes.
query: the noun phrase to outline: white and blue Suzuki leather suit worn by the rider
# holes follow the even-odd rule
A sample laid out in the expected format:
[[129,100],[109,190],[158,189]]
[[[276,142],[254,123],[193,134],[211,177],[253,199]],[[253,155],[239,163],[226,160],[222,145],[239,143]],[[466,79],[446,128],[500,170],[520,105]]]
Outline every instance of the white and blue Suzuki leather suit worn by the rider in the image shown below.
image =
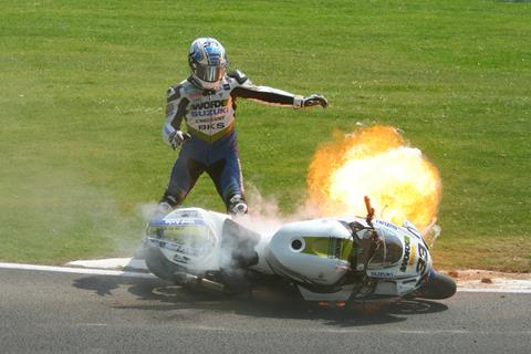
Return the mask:
[[163,138],[170,144],[184,121],[191,139],[181,146],[162,201],[174,208],[181,205],[204,171],[214,180],[228,211],[235,198],[243,199],[235,127],[238,97],[294,108],[303,105],[302,96],[256,86],[239,71],[225,75],[214,90],[194,84],[191,76],[169,87]]

